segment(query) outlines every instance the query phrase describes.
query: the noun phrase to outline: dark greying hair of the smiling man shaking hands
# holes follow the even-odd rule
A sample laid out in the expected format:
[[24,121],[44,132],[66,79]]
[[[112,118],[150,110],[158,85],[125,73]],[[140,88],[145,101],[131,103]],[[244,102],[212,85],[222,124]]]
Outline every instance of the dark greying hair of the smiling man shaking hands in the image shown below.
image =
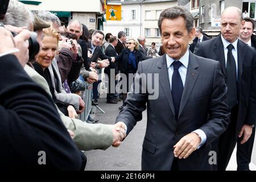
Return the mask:
[[163,10],[159,16],[158,27],[160,30],[160,34],[162,34],[161,26],[164,18],[175,19],[175,18],[179,18],[180,16],[183,17],[185,20],[187,31],[191,32],[191,30],[193,29],[193,20],[194,20],[192,14],[183,6],[173,6]]

